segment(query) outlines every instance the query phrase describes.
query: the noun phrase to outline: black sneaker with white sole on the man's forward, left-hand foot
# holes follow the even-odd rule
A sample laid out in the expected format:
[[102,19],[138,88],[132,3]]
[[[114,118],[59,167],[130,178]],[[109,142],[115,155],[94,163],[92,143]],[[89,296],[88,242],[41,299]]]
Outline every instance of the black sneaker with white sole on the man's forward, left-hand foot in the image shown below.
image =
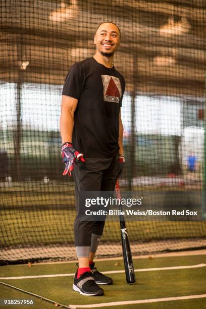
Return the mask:
[[77,278],[76,272],[73,290],[85,296],[104,295],[104,290],[96,284],[91,272],[85,272],[79,278]]

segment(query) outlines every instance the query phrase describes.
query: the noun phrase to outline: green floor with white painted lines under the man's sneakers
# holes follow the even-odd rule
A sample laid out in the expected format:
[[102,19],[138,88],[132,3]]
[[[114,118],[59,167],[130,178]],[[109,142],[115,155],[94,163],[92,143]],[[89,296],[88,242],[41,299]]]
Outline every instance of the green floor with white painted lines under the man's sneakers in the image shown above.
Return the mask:
[[[135,259],[135,269],[143,268],[162,268],[171,266],[188,266],[197,264],[206,264],[205,255],[175,256],[154,259]],[[118,265],[116,265],[118,264]],[[101,271],[123,270],[123,261],[99,261],[96,266]],[[0,268],[1,277],[16,276],[33,276],[48,274],[65,274],[74,273],[75,264],[41,264],[41,265],[15,265],[2,266]],[[129,285],[125,282],[125,274],[112,274],[114,284],[105,286],[105,295],[99,297],[86,297],[72,290],[73,277],[49,277],[49,278],[29,278],[6,280],[1,279],[11,285],[17,286],[27,291],[39,294],[43,297],[53,299],[59,303],[69,304],[95,304],[107,303],[112,301],[127,301],[150,298],[177,297],[187,295],[198,295],[206,293],[206,267],[178,269],[178,270],[161,270],[136,272],[136,283]],[[0,286],[0,298],[24,298],[35,299],[34,306],[23,306],[23,308],[49,309],[54,308],[50,304],[36,297],[18,292],[12,288]],[[19,306],[13,306],[19,308]],[[5,306],[6,308],[6,306]],[[8,306],[11,308],[11,306]],[[104,307],[101,307],[104,308]],[[145,304],[110,306],[105,308],[206,308],[206,299],[187,299],[168,302],[156,302]]]

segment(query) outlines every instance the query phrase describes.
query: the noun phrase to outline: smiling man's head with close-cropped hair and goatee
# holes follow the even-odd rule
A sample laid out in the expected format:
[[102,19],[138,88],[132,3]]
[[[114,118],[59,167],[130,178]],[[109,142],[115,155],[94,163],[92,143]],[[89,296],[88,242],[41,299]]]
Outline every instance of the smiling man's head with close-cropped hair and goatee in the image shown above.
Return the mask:
[[102,23],[94,35],[96,50],[105,57],[112,57],[120,44],[120,29],[112,23]]

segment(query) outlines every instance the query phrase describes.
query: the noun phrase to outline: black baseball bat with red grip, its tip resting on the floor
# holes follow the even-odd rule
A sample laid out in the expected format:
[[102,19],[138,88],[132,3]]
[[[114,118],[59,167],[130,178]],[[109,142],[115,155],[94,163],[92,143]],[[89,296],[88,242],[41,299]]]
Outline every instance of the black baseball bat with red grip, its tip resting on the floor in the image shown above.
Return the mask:
[[[115,188],[116,188],[117,198],[120,199],[119,209],[122,212],[121,193],[120,193],[120,186],[119,186],[118,179],[117,179]],[[123,215],[120,215],[120,228],[121,228],[122,251],[123,251],[123,258],[124,258],[126,281],[127,283],[134,283],[135,274],[134,274],[134,266],[133,266],[133,261],[132,261],[132,252],[130,249],[129,237],[128,237],[127,228],[126,228]]]

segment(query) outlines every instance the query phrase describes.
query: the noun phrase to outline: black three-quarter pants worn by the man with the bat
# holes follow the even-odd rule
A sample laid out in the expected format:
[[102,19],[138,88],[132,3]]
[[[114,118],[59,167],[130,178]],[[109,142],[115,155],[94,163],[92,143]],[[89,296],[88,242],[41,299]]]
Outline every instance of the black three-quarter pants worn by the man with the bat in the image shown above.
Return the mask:
[[119,173],[119,154],[113,158],[85,158],[85,168],[74,165],[76,219],[74,234],[76,247],[88,247],[91,235],[102,235],[105,221],[80,220],[80,191],[114,191]]

